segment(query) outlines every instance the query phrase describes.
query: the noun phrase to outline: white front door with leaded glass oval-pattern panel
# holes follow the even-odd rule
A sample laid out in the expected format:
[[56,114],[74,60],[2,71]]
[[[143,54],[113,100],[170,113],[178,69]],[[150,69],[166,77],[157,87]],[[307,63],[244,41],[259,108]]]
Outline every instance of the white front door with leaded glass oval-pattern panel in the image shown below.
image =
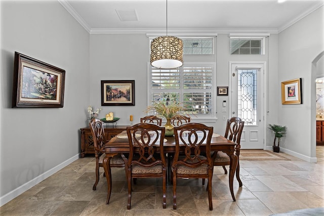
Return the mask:
[[264,66],[230,62],[231,117],[245,121],[241,149],[264,149]]

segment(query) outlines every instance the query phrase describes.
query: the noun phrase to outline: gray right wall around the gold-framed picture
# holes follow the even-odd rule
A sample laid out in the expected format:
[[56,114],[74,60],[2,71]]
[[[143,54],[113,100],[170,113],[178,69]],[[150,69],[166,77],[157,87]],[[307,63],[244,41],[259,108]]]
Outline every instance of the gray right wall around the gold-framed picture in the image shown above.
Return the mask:
[[302,78],[303,88],[303,104],[282,105],[280,91],[277,94],[278,124],[288,128],[280,146],[301,158],[315,157],[315,148],[311,148],[315,145],[316,117],[311,115],[315,109],[311,62],[324,50],[323,38],[323,7],[278,34],[278,82],[274,87],[279,89],[280,82]]

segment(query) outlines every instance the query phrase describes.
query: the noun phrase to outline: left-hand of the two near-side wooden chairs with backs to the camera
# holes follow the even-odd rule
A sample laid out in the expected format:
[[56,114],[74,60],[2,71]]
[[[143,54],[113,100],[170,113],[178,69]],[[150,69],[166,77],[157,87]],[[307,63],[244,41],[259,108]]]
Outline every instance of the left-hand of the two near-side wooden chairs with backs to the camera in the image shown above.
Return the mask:
[[[132,178],[163,178],[163,208],[167,207],[167,163],[163,148],[165,133],[165,127],[151,123],[139,123],[127,127],[130,143],[127,164],[127,209],[131,209]],[[155,147],[159,148],[159,153],[154,153]]]

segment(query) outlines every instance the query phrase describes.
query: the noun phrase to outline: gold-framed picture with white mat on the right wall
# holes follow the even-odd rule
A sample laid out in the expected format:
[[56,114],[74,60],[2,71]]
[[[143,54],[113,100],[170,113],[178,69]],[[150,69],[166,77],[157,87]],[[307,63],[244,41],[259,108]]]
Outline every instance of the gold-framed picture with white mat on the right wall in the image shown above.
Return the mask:
[[281,82],[281,103],[302,104],[302,78]]

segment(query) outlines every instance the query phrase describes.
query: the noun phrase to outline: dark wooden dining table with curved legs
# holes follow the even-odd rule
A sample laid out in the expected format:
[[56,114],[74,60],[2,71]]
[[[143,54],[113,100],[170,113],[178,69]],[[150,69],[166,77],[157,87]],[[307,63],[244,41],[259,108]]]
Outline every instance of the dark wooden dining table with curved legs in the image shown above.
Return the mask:
[[[120,137],[120,138],[118,138]],[[165,142],[163,145],[164,153],[174,154],[176,151],[176,143],[175,143],[175,137],[174,136],[165,136]],[[236,171],[236,178],[237,181],[240,183],[241,181],[239,179],[239,170],[236,170],[238,168],[238,157],[235,154],[235,151],[239,152],[239,149],[237,149],[237,146],[239,148],[239,145],[236,145],[237,143],[234,141],[231,141],[227,138],[225,138],[222,135],[213,133],[212,139],[211,139],[211,152],[216,151],[222,151],[226,153],[230,158],[230,166],[229,166],[229,189],[230,193],[232,195],[233,201],[235,201],[235,196],[233,192],[233,179],[234,174]],[[180,144],[180,151],[184,151],[185,146]],[[105,143],[105,158],[103,159],[103,168],[105,171],[105,175],[107,178],[107,200],[106,204],[109,203],[110,195],[111,195],[111,187],[112,187],[112,177],[111,177],[111,168],[110,168],[110,159],[114,157],[115,155],[119,153],[129,153],[130,151],[130,145],[127,137],[127,131],[123,131],[116,136],[112,137],[107,143]],[[154,152],[159,153],[159,146],[154,147]],[[127,166],[127,165],[126,165]]]

